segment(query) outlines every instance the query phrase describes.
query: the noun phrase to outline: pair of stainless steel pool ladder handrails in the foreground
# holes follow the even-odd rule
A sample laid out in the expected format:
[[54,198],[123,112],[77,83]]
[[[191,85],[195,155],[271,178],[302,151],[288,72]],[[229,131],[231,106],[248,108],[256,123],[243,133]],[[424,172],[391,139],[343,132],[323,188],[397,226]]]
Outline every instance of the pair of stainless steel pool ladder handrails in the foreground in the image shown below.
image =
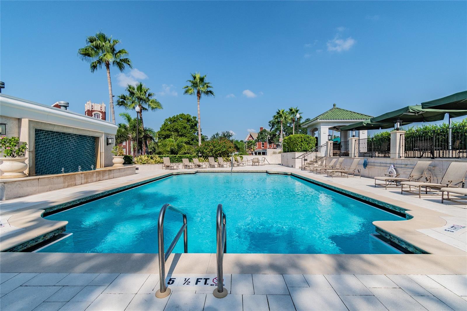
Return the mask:
[[[183,225],[178,230],[177,235],[170,243],[167,252],[164,253],[164,216],[167,210],[177,212],[183,216]],[[157,222],[157,240],[159,242],[159,290],[156,291],[157,298],[164,298],[170,295],[170,288],[165,284],[165,262],[169,258],[172,250],[177,244],[178,240],[182,236],[184,237],[184,252],[188,253],[188,236],[187,236],[187,221],[186,214],[177,207],[170,204],[164,204],[159,212],[159,219]],[[223,298],[227,296],[227,290],[224,288],[224,273],[223,273],[223,262],[224,253],[227,250],[226,242],[226,214],[222,210],[222,204],[217,205],[216,214],[216,257],[217,257],[217,288],[214,289],[213,295],[217,298]],[[220,280],[220,281],[219,281]]]

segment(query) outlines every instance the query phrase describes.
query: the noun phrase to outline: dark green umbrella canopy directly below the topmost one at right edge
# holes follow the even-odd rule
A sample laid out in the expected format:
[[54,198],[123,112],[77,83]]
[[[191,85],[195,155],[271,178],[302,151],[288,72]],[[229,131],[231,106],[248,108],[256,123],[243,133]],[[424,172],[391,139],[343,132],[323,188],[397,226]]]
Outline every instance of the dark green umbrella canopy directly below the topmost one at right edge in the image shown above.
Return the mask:
[[439,110],[439,109],[423,109],[422,106],[407,106],[401,109],[384,113],[377,117],[371,118],[372,123],[396,123],[397,120],[401,120],[403,123],[413,122],[433,122],[444,119],[446,113],[449,113],[451,117],[460,117],[467,115],[466,110]]

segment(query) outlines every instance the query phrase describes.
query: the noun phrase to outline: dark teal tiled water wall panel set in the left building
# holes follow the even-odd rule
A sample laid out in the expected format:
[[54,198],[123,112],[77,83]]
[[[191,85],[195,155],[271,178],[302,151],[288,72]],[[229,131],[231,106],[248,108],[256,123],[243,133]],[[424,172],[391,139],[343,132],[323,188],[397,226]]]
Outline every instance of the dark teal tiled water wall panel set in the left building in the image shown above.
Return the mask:
[[60,174],[96,168],[94,136],[35,129],[35,175]]

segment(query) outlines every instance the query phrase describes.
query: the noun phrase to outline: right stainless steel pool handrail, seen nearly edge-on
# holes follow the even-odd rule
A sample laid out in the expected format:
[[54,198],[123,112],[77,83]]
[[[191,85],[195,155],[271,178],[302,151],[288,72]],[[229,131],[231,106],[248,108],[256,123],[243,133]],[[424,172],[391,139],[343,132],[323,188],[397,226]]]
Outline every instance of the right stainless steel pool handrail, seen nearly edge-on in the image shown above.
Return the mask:
[[216,244],[217,244],[217,288],[212,294],[216,298],[224,298],[227,296],[227,290],[224,288],[224,253],[227,250],[226,240],[226,214],[222,211],[222,204],[217,205],[216,215]]

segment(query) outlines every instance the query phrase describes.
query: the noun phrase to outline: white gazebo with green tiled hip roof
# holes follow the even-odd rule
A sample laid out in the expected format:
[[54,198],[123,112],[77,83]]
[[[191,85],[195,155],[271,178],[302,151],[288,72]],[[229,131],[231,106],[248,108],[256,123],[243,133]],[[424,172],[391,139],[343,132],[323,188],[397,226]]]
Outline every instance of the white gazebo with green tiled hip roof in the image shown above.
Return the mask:
[[[321,146],[328,140],[328,134],[330,134],[330,131],[340,132],[340,141],[347,141],[350,135],[348,134],[348,131],[341,131],[340,127],[368,120],[369,118],[372,118],[372,116],[342,109],[337,107],[336,104],[333,104],[331,109],[307,122],[304,122],[301,127],[307,128],[308,135],[318,137],[318,146]],[[356,132],[356,136],[360,139],[367,138],[367,135],[367,130]]]

